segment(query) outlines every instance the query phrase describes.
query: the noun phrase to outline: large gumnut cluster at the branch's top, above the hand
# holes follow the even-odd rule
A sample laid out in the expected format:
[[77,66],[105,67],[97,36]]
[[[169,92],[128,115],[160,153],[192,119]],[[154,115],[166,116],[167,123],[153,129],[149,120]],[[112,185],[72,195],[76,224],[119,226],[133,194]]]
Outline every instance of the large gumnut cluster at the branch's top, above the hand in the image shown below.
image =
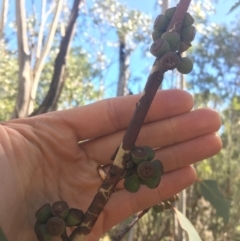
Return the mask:
[[166,32],[175,11],[176,7],[169,8],[156,18],[152,33],[154,42],[150,47],[150,52],[161,58],[161,67],[165,70],[177,68],[180,73],[188,74],[193,69],[193,62],[188,57],[181,57],[181,53],[192,46],[191,42],[196,34],[193,26],[194,19],[187,12],[179,32],[175,29]]

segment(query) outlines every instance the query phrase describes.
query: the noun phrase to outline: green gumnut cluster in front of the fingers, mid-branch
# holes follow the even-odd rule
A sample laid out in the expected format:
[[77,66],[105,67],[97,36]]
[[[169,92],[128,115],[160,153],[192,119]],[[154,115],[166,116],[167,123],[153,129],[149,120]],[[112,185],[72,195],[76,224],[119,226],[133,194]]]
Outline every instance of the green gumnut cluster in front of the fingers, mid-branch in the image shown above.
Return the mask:
[[148,146],[134,147],[126,165],[124,187],[129,192],[137,192],[141,185],[156,188],[163,175],[163,165],[153,160],[155,152]]

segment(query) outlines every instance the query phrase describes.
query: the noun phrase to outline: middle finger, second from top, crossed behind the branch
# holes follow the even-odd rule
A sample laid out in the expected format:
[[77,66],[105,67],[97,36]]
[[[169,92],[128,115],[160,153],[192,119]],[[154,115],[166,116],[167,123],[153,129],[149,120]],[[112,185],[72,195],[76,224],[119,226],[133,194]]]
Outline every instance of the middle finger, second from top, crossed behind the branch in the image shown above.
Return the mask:
[[[218,113],[211,109],[199,109],[190,113],[145,124],[137,139],[137,145],[147,145],[152,148],[165,147],[201,135],[216,132],[221,125]],[[81,148],[89,160],[99,164],[110,163],[110,156],[122,140],[124,131],[97,138],[83,143]]]

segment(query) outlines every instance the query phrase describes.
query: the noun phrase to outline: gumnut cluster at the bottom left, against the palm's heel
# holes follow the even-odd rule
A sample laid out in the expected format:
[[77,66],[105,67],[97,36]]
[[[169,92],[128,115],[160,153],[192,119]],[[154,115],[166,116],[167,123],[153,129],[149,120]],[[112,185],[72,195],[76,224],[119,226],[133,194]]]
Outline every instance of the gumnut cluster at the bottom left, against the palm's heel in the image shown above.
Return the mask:
[[35,234],[39,241],[50,241],[53,237],[66,233],[66,227],[78,226],[83,220],[84,213],[80,209],[69,208],[65,201],[49,203],[39,208],[35,216]]

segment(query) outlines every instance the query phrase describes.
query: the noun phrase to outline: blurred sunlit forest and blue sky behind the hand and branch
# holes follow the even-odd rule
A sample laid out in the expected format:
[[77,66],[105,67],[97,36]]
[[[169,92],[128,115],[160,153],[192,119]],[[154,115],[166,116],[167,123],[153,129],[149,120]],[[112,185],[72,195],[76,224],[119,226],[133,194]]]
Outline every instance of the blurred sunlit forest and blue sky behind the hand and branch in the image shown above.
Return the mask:
[[[140,93],[154,61],[149,53],[154,19],[176,3],[0,0],[0,121]],[[214,108],[223,120],[222,151],[196,165],[199,181],[176,204],[204,241],[240,241],[240,8],[229,13],[234,4],[192,1],[197,36],[188,56],[194,69],[187,76],[167,73],[161,87],[189,91],[194,108]],[[209,179],[229,203],[222,213],[200,190],[201,180]],[[124,240],[187,239],[167,210],[149,212]]]

